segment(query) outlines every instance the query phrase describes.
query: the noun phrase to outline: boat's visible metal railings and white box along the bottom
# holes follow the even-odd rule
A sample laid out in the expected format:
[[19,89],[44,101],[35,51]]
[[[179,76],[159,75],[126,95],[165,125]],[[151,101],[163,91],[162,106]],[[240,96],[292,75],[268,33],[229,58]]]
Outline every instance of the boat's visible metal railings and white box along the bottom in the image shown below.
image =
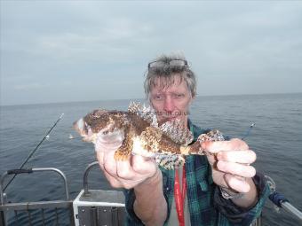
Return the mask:
[[[51,225],[60,225],[58,210],[68,213],[70,226],[119,226],[124,224],[126,212],[124,205],[124,196],[122,191],[104,191],[90,190],[88,187],[88,175],[91,168],[98,167],[97,161],[92,162],[87,166],[83,174],[83,189],[78,193],[76,199],[69,199],[68,179],[66,175],[58,168],[28,168],[28,169],[12,169],[4,172],[0,177],[0,226],[20,225],[20,212],[26,212],[28,225],[35,225],[34,219],[31,216],[31,211],[36,210],[41,212],[39,225],[46,225],[46,222],[52,222]],[[63,179],[65,190],[64,200],[38,201],[38,202],[7,202],[8,194],[4,193],[4,179],[8,175],[22,175],[38,173],[43,171],[51,171],[56,173]],[[269,200],[274,203],[275,207],[279,207],[297,217],[302,223],[302,213],[280,193],[275,191],[274,180],[266,176],[267,183],[270,187],[271,194]],[[52,218],[45,217],[46,210],[52,212]],[[11,218],[8,217],[11,213]],[[12,214],[14,214],[12,216]],[[23,214],[24,215],[24,214]],[[13,218],[13,219],[12,219]],[[66,219],[64,219],[66,221]],[[24,216],[22,218],[24,222]],[[36,221],[36,219],[35,219]],[[10,224],[13,222],[13,224]],[[262,216],[260,215],[250,226],[262,226]]]

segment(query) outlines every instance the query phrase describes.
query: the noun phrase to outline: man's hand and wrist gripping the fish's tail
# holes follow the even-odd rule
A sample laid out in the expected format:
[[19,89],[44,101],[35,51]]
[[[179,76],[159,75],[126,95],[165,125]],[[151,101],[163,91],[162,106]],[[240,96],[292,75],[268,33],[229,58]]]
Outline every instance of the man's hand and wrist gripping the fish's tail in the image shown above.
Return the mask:
[[228,191],[243,192],[248,201],[242,205],[249,207],[257,200],[257,191],[251,177],[256,174],[256,169],[250,166],[256,160],[256,153],[249,149],[241,139],[229,141],[203,142],[203,149],[208,154],[212,168],[214,183]]

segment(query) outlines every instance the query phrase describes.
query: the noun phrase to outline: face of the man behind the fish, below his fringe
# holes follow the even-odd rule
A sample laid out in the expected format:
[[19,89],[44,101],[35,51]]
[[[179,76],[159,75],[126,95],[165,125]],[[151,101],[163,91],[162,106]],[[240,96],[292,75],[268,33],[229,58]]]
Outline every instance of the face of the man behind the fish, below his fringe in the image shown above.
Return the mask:
[[160,79],[150,92],[150,102],[154,107],[159,122],[179,119],[187,124],[188,108],[192,100],[191,92],[187,88],[187,82],[180,82],[179,76],[175,76],[171,86],[163,87]]

